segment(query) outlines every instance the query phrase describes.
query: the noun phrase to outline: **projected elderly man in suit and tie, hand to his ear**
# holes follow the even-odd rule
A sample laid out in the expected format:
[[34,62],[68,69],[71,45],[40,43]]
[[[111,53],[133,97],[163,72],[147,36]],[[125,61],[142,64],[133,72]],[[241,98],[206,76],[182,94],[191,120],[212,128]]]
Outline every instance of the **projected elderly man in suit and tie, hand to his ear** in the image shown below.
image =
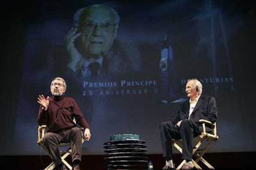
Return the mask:
[[75,12],[74,25],[65,38],[71,73],[88,77],[140,70],[139,52],[135,47],[116,42],[119,22],[116,10],[103,4]]

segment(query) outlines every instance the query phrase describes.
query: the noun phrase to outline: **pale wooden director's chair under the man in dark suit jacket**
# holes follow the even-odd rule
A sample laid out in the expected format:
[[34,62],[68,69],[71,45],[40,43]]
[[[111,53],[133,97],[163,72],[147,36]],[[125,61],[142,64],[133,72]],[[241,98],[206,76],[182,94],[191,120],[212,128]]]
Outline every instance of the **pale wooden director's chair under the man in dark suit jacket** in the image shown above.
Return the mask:
[[[200,134],[200,136],[197,136],[194,138],[195,147],[192,150],[192,155],[195,157],[195,160],[192,160],[192,164],[197,169],[202,169],[198,165],[198,161],[201,161],[205,166],[207,166],[209,169],[214,169],[213,166],[211,166],[210,163],[208,163],[202,156],[207,151],[208,147],[210,147],[211,142],[216,142],[218,140],[217,136],[217,127],[216,123],[211,123],[210,121],[207,121],[205,119],[200,119],[200,123],[202,123],[203,131]],[[207,132],[206,127],[211,128],[211,132]],[[175,140],[173,139],[173,145],[179,152],[182,153],[182,144],[181,140]],[[181,169],[182,166],[186,163],[186,160],[183,160],[181,164],[177,167],[177,169]]]

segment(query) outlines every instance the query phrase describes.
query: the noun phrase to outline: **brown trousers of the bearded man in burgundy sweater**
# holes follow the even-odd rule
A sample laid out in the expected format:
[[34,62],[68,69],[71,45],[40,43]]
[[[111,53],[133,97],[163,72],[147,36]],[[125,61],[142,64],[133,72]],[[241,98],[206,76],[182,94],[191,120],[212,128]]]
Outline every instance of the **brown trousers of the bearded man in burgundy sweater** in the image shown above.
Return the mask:
[[73,127],[62,132],[53,133],[47,132],[43,137],[43,144],[48,150],[49,155],[55,164],[61,163],[61,156],[59,155],[58,144],[70,143],[72,150],[72,161],[81,161],[82,155],[82,133],[79,127]]

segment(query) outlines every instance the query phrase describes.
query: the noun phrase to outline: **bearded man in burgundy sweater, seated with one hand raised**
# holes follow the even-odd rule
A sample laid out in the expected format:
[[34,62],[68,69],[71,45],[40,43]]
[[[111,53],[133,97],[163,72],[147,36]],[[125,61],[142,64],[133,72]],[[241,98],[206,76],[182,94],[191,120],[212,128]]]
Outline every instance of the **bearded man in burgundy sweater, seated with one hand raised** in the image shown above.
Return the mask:
[[[64,96],[66,92],[66,82],[62,78],[55,78],[51,82],[51,97],[39,95],[40,104],[38,113],[38,124],[46,124],[48,131],[43,137],[43,145],[53,158],[58,169],[66,169],[62,164],[57,145],[61,142],[71,144],[72,163],[74,170],[79,170],[82,156],[82,137],[89,140],[91,137],[89,124],[80,111],[79,106],[71,97]],[[82,136],[80,128],[76,126],[73,119],[84,131]]]

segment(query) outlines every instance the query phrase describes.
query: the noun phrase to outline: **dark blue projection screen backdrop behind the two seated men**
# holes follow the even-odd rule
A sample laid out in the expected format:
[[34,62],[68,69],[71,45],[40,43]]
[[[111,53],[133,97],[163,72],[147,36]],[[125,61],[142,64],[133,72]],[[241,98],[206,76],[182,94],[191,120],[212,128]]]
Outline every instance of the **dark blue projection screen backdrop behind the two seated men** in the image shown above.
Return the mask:
[[[84,153],[103,153],[103,142],[119,133],[140,134],[149,153],[161,153],[158,126],[174,118],[179,102],[172,102],[186,98],[187,78],[200,79],[203,94],[217,99],[220,140],[210,151],[255,152],[255,10],[250,1],[12,1],[1,6],[1,155],[40,153],[36,97],[49,95],[51,79],[61,75],[54,72],[54,63],[62,57],[72,15],[96,3],[117,10],[117,38],[135,45],[142,69],[135,75],[68,82],[67,95],[77,100],[92,128]],[[164,34],[175,68],[167,76],[159,68]],[[82,95],[90,90],[83,88],[84,81],[121,80],[153,80],[156,85],[92,89],[94,94],[131,89],[134,95]],[[140,89],[147,94],[139,94]]]

